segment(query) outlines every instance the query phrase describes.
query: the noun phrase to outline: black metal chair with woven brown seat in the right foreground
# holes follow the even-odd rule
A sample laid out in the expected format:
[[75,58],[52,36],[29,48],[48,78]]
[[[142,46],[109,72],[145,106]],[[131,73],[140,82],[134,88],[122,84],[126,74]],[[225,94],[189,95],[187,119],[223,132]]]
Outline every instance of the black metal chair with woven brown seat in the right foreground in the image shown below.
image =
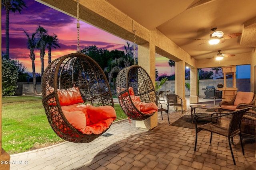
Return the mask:
[[[231,147],[231,139],[236,135],[240,136],[240,143],[241,143],[242,152],[243,152],[243,155],[244,155],[244,147],[243,147],[243,143],[242,143],[240,125],[241,125],[241,119],[242,119],[244,113],[246,113],[246,111],[248,111],[250,108],[251,107],[247,107],[245,109],[240,109],[240,110],[232,111],[232,112],[229,112],[229,113],[212,113],[211,117],[201,117],[201,116],[197,117],[196,118],[196,141],[195,141],[194,151],[196,151],[196,143],[197,143],[197,137],[198,137],[197,134],[200,131],[205,130],[205,131],[211,132],[210,143],[212,143],[212,133],[217,133],[219,135],[228,137],[230,152],[232,154],[233,162],[234,162],[234,165],[235,165],[236,162],[235,162],[234,154],[233,154],[232,147]],[[222,114],[222,115],[213,117],[215,114]],[[229,117],[231,117],[228,127],[223,127],[221,125],[214,124],[212,122],[206,123],[206,124],[200,125],[200,126],[197,125],[197,121],[200,118],[213,120],[213,119],[218,119],[219,117],[228,116],[228,115],[229,115]]]

